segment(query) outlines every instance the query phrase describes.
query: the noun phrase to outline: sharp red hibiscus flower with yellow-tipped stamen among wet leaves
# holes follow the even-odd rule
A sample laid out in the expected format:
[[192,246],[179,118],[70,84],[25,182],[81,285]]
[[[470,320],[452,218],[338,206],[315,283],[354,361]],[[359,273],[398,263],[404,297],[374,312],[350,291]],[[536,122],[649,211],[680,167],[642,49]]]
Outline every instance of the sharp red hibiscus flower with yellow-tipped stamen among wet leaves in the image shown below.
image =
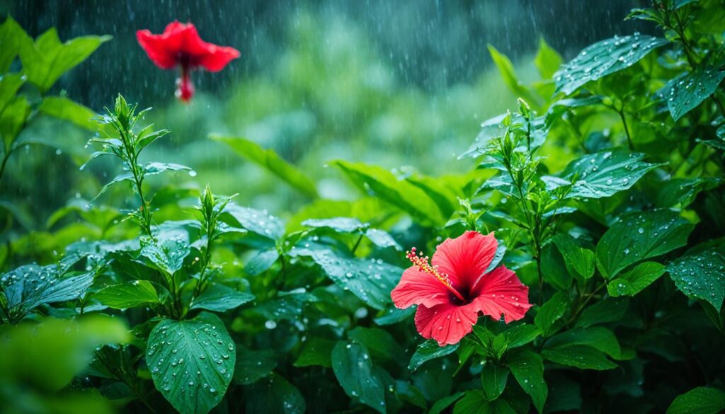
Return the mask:
[[505,323],[523,318],[531,307],[529,287],[505,266],[486,273],[497,246],[493,233],[466,231],[439,244],[432,265],[414,247],[407,252],[413,266],[390,294],[395,306],[419,305],[415,327],[442,347],[470,333],[480,314],[494,320],[503,315]]

